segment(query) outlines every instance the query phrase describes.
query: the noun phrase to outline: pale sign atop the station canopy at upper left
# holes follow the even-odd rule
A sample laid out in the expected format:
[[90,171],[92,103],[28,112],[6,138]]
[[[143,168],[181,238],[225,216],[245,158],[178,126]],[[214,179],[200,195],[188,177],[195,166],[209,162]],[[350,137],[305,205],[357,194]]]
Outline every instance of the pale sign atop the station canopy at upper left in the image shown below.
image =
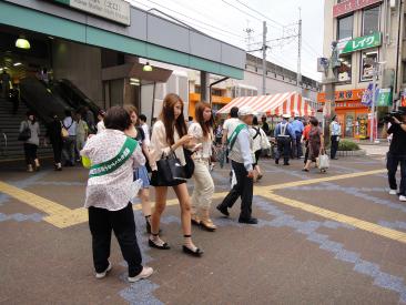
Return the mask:
[[85,11],[130,26],[130,3],[124,0],[54,0],[77,10]]

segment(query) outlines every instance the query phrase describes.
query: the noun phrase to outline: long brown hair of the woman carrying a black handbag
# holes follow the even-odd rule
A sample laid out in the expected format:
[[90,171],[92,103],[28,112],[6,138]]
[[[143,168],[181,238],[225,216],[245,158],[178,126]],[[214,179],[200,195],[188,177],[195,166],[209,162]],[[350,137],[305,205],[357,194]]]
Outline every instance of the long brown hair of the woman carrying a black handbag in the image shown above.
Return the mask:
[[[174,108],[177,102],[180,102],[182,105],[182,112],[175,120]],[[173,135],[174,135],[173,126],[175,126],[180,138],[182,138],[183,135],[185,135],[187,133],[186,124],[184,122],[184,116],[183,116],[183,101],[177,94],[169,93],[163,99],[160,120],[163,122],[163,124],[165,126],[166,142],[170,145],[175,143],[175,140],[173,138]]]

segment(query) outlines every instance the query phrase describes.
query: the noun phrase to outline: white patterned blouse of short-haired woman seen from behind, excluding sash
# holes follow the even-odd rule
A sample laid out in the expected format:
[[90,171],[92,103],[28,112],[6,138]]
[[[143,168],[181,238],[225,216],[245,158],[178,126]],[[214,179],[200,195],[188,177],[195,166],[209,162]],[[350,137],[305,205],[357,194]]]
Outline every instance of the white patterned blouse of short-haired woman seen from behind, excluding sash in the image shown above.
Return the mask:
[[[106,129],[88,139],[80,154],[88,156],[92,164],[100,164],[116,156],[125,140],[126,135],[123,132]],[[124,209],[135,195],[133,171],[144,164],[145,157],[138,145],[130,159],[119,169],[105,175],[90,177],[84,207],[95,206],[109,211]]]

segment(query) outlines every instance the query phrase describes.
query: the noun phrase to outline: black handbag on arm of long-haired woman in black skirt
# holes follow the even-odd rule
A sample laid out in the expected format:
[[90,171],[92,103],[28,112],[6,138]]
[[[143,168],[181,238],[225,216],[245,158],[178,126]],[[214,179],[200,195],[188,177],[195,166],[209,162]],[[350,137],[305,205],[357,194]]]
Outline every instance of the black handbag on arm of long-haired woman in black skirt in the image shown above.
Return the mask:
[[169,155],[162,154],[162,157],[156,161],[158,174],[164,183],[171,184],[174,181],[185,180],[184,167],[174,152]]

